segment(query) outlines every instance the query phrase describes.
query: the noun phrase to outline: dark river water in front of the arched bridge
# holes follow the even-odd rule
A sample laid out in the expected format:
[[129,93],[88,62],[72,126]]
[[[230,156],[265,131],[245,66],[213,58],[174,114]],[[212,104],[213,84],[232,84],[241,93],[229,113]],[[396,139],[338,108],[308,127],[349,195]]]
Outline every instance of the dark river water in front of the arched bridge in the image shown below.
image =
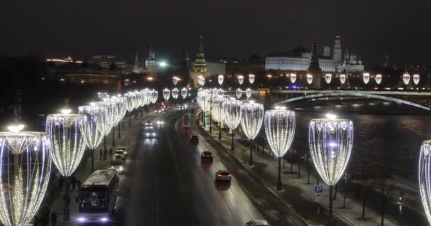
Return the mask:
[[[422,141],[431,139],[431,117],[425,114],[410,114],[415,111],[411,107],[405,113],[399,113],[399,107],[386,102],[343,103],[332,106],[319,106],[307,108],[296,107],[296,138],[293,148],[308,152],[308,123],[310,119],[324,117],[328,111],[337,112],[340,118],[352,119],[354,122],[354,149],[352,153],[352,165],[362,160],[364,150],[376,153],[384,157],[391,174],[398,174],[410,180],[417,178],[417,162]],[[376,111],[379,114],[367,114],[367,110]],[[403,106],[404,107],[404,106]],[[360,108],[360,112],[358,111]],[[343,111],[343,112],[340,112]],[[370,111],[370,112],[371,112]],[[391,112],[398,114],[391,114]],[[423,113],[423,112],[421,112]]]

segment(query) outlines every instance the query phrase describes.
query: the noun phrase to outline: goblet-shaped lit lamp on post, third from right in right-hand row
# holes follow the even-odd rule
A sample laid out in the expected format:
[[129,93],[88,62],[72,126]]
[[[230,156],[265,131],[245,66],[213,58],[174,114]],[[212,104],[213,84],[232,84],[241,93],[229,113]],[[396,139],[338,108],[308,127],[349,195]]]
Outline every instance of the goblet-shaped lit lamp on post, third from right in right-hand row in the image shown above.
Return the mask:
[[264,125],[272,153],[279,158],[277,190],[281,190],[281,158],[291,147],[295,135],[295,112],[286,110],[285,107],[268,110],[265,112]]

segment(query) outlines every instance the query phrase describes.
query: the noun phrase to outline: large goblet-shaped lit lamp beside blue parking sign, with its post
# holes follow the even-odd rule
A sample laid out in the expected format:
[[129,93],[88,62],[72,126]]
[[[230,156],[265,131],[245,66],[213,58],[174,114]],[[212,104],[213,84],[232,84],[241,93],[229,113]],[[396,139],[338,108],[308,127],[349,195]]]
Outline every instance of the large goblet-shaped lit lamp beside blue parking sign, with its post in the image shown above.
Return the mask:
[[315,169],[329,186],[329,224],[332,224],[332,190],[345,172],[353,145],[353,123],[348,119],[312,119],[308,144]]

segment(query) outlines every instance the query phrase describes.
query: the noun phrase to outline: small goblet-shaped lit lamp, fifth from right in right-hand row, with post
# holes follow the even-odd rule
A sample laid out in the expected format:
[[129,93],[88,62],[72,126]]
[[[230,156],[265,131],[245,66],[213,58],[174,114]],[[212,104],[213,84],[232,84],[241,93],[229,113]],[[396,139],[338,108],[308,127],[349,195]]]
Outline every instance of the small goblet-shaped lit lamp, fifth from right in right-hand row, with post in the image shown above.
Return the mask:
[[225,122],[226,124],[228,124],[229,129],[232,131],[232,143],[230,144],[231,150],[235,150],[233,137],[235,136],[235,129],[237,129],[241,122],[241,105],[242,101],[240,100],[225,100],[223,102],[222,108]]

